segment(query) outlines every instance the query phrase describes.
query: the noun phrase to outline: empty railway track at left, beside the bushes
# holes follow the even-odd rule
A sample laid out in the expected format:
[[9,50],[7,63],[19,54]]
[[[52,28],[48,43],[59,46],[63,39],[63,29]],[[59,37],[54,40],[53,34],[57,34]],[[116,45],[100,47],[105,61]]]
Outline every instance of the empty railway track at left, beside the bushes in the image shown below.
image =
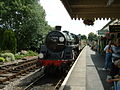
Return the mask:
[[26,75],[38,68],[40,66],[37,65],[37,59],[28,59],[18,63],[3,65],[0,67],[0,85]]

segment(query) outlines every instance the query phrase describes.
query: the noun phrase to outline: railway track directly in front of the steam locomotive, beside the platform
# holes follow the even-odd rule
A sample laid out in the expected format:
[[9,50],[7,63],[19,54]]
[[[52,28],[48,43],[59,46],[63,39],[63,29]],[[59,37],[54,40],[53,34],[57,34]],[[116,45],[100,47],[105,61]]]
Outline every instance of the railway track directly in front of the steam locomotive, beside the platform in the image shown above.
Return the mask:
[[[70,65],[71,67],[72,65]],[[57,74],[50,74],[45,75],[43,74],[35,81],[30,83],[28,86],[21,86],[20,90],[59,90],[64,78],[66,77],[70,67],[66,70],[66,72],[62,75]]]

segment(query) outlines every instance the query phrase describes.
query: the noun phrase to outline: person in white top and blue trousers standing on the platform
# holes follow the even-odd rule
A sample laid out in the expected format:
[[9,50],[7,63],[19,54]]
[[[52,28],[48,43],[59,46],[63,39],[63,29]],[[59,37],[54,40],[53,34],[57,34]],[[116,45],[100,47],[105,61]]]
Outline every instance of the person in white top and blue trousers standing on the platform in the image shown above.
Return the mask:
[[109,41],[108,45],[105,46],[104,51],[106,52],[105,55],[105,65],[103,70],[110,70],[112,67],[112,42]]

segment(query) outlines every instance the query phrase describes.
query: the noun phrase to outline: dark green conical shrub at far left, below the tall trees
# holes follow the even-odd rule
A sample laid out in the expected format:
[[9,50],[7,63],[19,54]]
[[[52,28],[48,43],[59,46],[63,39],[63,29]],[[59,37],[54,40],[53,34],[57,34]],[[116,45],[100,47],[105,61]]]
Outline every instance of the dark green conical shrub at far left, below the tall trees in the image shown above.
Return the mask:
[[16,52],[17,41],[12,30],[5,30],[3,33],[2,50],[10,50],[12,53]]

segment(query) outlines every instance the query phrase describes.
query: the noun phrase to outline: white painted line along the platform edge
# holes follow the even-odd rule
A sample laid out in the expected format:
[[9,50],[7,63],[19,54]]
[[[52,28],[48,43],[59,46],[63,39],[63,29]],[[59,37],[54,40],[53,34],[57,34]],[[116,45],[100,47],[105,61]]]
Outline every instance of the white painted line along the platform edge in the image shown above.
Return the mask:
[[[86,47],[86,46],[85,46],[85,47]],[[85,47],[84,47],[84,49],[85,49]],[[70,71],[68,72],[68,74],[67,74],[66,78],[64,79],[64,81],[63,81],[63,83],[62,83],[62,85],[61,85],[61,87],[60,87],[59,90],[63,90],[63,89],[64,89],[64,87],[65,87],[65,85],[66,85],[66,83],[67,83],[67,81],[68,81],[68,79],[69,79],[69,76],[70,76],[70,74],[72,73],[73,68],[75,67],[75,65],[76,65],[79,57],[80,57],[81,54],[83,53],[84,49],[81,51],[80,55],[78,56],[78,58],[77,58],[76,61],[74,62],[73,66],[71,67]]]

